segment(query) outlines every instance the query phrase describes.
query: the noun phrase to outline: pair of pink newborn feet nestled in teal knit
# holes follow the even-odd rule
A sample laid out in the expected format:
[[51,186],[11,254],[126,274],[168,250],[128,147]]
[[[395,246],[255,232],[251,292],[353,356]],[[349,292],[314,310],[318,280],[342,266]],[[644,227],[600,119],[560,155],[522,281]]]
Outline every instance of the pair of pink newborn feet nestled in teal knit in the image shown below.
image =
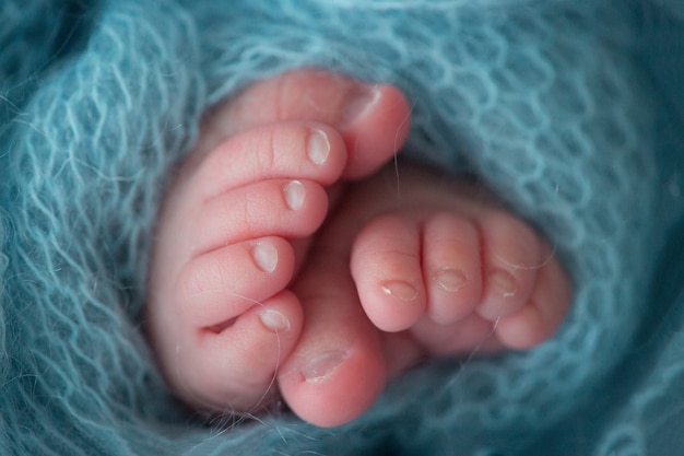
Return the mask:
[[[338,425],[425,356],[523,349],[570,301],[547,243],[467,180],[392,162],[390,85],[300,70],[209,113],[168,192],[149,330],[176,394]],[[389,165],[387,165],[389,163]]]

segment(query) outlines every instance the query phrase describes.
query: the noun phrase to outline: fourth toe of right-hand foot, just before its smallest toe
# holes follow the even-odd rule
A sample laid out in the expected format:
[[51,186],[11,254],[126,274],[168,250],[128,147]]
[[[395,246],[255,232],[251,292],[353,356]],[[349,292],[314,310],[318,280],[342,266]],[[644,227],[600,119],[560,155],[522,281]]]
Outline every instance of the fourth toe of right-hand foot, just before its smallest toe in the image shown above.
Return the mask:
[[530,299],[544,259],[542,241],[517,218],[499,210],[479,215],[483,245],[483,296],[477,312],[496,320],[519,311]]

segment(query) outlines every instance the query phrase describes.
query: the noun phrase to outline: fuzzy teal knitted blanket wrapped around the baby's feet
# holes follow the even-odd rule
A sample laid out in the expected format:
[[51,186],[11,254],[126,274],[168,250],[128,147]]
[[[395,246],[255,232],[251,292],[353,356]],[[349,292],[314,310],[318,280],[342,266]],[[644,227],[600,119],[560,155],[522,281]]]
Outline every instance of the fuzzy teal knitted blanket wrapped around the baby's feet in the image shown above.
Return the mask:
[[[676,0],[4,0],[0,23],[0,453],[683,447]],[[302,66],[402,87],[409,153],[550,236],[576,282],[557,337],[411,372],[335,430],[207,425],[174,401],[141,330],[169,169],[207,106]]]

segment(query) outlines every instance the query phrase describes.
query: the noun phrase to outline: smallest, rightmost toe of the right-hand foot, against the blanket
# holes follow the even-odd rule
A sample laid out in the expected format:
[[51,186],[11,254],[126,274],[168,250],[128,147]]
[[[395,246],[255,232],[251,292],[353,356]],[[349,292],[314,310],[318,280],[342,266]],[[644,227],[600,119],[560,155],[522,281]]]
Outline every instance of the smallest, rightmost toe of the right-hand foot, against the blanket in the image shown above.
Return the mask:
[[549,258],[528,303],[497,325],[498,339],[509,348],[528,349],[549,339],[570,307],[570,280],[557,258],[552,254]]

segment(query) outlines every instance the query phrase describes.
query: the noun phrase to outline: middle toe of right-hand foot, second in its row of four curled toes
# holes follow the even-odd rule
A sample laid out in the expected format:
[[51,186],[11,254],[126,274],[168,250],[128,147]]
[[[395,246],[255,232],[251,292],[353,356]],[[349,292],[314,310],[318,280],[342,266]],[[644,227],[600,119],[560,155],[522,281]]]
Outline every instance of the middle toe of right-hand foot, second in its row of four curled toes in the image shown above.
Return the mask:
[[468,219],[436,213],[423,223],[427,314],[449,325],[471,315],[482,299],[480,235]]

